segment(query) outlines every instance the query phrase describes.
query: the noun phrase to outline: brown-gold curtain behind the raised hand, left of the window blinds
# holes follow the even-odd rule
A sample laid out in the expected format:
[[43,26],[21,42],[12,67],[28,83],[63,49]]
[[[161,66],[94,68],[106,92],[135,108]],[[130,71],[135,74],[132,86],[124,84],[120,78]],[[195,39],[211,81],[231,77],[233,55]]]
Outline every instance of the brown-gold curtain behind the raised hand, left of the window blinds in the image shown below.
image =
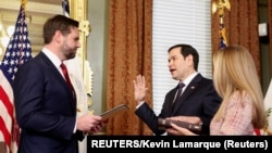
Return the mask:
[[151,135],[134,111],[133,80],[138,74],[146,77],[151,106],[152,98],[152,0],[111,0],[109,9],[109,48],[107,67],[107,110],[122,103],[129,111],[112,118],[107,135]]

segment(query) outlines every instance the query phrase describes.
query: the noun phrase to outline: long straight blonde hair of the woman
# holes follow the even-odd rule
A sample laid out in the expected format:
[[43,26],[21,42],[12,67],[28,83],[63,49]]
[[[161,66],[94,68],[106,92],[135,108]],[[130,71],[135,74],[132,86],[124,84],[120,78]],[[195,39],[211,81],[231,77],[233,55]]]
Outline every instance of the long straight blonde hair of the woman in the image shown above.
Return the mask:
[[252,99],[251,123],[255,128],[263,128],[267,123],[263,94],[249,51],[243,46],[230,46],[221,49],[213,54],[213,68],[214,87],[223,99],[214,118],[222,118],[226,102],[235,91],[239,91],[240,95],[246,92]]

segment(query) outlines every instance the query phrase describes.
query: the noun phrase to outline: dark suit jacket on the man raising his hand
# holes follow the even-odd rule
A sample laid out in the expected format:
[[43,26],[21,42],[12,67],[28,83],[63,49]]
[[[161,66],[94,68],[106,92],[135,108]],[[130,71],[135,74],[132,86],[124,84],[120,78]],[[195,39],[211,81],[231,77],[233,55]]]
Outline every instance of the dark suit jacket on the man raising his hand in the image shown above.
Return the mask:
[[166,118],[171,116],[198,116],[202,120],[201,135],[209,135],[210,122],[221,104],[221,98],[218,95],[211,79],[202,77],[198,74],[187,86],[178,99],[178,103],[172,111],[172,103],[177,87],[169,91],[165,95],[159,116],[144,103],[136,110],[136,115],[144,120],[148,127],[156,133],[162,135],[165,131],[158,128],[158,118]]

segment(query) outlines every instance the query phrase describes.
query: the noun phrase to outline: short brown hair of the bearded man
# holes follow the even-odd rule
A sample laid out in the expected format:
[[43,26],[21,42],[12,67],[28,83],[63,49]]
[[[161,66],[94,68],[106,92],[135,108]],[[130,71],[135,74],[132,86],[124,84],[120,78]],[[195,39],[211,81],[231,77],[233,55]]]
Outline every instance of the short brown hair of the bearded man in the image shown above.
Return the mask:
[[45,44],[52,41],[53,35],[57,30],[60,30],[62,35],[65,36],[71,33],[72,27],[78,27],[78,25],[79,23],[77,21],[60,14],[47,20],[44,25]]

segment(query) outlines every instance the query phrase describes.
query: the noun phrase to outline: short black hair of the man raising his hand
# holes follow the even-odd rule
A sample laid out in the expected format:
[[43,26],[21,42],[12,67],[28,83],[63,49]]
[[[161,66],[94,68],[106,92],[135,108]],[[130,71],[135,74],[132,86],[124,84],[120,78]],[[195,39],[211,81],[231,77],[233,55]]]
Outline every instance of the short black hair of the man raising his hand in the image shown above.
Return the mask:
[[197,71],[198,69],[198,62],[199,62],[199,55],[198,55],[198,52],[197,50],[189,46],[189,44],[184,44],[184,43],[181,43],[181,44],[175,44],[175,46],[172,46],[170,49],[169,49],[169,52],[174,49],[174,48],[181,48],[181,54],[184,56],[184,59],[186,56],[188,56],[189,54],[193,55],[193,61],[194,61],[194,68]]

